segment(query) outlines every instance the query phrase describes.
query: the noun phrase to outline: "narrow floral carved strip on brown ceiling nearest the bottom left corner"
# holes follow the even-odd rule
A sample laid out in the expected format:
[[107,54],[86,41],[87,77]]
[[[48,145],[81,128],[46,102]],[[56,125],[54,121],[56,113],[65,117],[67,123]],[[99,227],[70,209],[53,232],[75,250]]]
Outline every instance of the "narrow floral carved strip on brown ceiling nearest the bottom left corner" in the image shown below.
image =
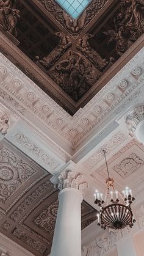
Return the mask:
[[32,247],[35,251],[39,252],[40,254],[45,254],[47,248],[37,240],[34,240],[31,236],[27,235],[23,230],[21,229],[14,229],[12,231],[12,235],[15,236],[18,240],[23,242],[24,244],[27,244],[28,246]]

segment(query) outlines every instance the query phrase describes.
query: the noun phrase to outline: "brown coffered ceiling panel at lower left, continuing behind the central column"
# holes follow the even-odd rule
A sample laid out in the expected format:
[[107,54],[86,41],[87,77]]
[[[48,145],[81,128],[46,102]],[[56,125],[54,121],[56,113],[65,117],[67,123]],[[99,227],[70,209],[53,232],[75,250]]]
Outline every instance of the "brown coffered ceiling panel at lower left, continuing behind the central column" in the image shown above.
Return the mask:
[[[59,206],[52,175],[9,142],[0,144],[1,233],[34,255],[51,251]],[[96,220],[96,210],[82,202],[82,229]]]

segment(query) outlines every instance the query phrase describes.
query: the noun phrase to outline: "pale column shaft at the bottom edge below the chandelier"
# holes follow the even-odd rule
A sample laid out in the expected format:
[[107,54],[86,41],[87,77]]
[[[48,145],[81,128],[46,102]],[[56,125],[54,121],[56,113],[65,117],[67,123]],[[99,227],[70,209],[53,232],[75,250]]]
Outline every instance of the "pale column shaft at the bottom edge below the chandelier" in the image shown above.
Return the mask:
[[137,256],[132,235],[125,236],[117,242],[118,256]]

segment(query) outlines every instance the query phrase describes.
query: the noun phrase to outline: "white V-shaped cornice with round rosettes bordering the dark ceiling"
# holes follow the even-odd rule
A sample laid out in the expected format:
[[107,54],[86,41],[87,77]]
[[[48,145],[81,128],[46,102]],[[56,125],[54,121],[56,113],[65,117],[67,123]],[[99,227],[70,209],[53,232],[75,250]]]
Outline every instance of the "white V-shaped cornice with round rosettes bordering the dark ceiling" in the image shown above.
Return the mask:
[[[73,117],[60,108],[4,55],[0,54],[1,101],[35,131],[37,128],[34,128],[34,124],[26,118],[26,113],[36,117],[41,125],[45,125],[49,131],[59,137],[62,141],[62,147],[64,147],[63,144],[67,144],[74,149],[82,141],[87,142],[87,139],[90,139],[90,135],[98,129],[98,126],[102,122],[104,123],[104,120],[112,113],[116,113],[121,106],[120,111],[122,111],[123,103],[129,100],[129,97],[134,95],[133,100],[135,100],[134,93],[142,87],[144,79],[142,73],[143,54],[144,48]],[[140,74],[135,73],[137,68],[140,68]],[[40,134],[40,130],[37,132]],[[48,133],[41,133],[41,137],[49,140]]]

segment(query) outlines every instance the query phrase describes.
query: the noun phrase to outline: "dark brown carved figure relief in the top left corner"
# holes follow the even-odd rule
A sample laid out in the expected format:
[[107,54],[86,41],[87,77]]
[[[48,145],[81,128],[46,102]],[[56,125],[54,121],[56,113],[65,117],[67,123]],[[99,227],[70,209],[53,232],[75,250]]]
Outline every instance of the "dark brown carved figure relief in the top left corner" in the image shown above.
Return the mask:
[[17,37],[16,23],[20,18],[20,11],[16,9],[16,0],[0,1],[0,23],[4,31],[9,31],[14,37]]

